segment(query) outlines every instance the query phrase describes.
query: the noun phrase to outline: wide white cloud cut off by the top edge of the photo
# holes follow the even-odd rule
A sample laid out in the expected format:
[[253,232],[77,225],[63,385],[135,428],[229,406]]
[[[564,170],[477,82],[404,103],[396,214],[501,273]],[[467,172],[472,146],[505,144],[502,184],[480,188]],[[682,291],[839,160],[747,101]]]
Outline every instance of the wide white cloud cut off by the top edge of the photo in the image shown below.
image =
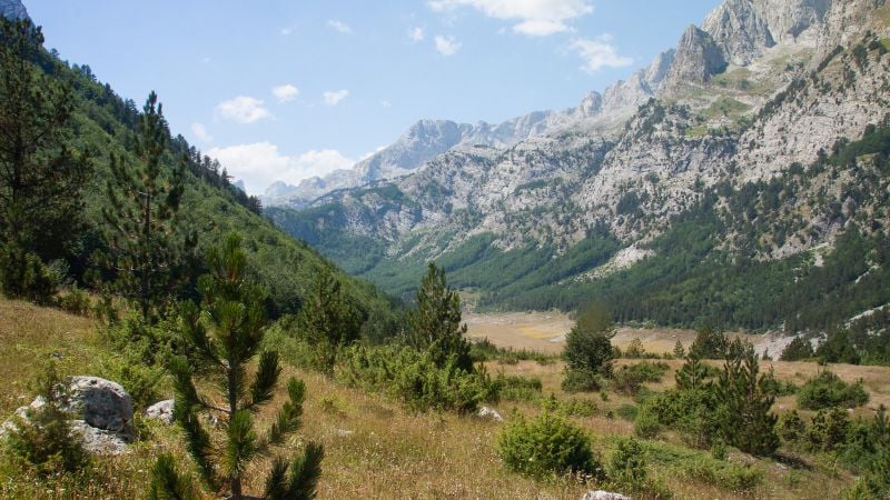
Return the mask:
[[471,7],[490,18],[517,20],[513,31],[530,37],[570,31],[568,21],[593,12],[590,0],[431,0],[428,6],[436,12]]

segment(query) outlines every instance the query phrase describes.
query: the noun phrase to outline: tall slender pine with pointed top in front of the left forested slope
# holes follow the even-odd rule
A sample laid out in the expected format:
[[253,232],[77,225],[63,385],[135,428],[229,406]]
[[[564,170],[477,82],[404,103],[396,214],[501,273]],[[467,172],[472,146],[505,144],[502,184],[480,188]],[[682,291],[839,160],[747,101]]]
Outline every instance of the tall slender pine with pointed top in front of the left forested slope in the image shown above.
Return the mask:
[[102,209],[110,254],[102,259],[117,273],[115,288],[132,300],[150,322],[186,281],[197,233],[184,229],[179,204],[185,190],[185,157],[165,172],[167,122],[155,92],[148,96],[136,137],[138,164],[111,154],[109,203]]

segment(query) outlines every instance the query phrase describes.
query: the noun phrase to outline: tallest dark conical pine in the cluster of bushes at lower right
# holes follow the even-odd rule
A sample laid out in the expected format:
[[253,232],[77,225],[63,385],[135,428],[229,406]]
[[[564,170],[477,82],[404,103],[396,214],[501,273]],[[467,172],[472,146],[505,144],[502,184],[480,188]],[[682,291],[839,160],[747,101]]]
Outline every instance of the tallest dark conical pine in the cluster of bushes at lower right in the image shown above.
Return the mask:
[[770,412],[774,397],[768,396],[759,376],[754,347],[739,339],[726,348],[726,360],[718,382],[721,433],[729,444],[756,456],[772,454],[779,447],[777,417]]

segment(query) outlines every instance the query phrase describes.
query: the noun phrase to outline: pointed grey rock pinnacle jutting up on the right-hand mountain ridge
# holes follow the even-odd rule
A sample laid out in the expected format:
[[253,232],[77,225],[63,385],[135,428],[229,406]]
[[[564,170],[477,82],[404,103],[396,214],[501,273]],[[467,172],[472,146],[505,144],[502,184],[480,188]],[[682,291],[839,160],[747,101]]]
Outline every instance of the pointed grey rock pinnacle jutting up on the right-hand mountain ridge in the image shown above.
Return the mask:
[[723,51],[711,36],[690,26],[680,38],[676,56],[668,80],[672,86],[682,82],[701,83],[726,69]]

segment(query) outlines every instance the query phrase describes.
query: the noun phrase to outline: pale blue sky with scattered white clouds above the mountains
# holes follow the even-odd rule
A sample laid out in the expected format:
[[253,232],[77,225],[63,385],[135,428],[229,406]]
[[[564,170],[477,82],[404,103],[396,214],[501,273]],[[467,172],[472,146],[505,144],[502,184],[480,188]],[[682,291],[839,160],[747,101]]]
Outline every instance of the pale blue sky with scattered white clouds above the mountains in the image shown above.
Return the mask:
[[349,168],[421,119],[565,109],[720,0],[23,0],[46,44],[251,194]]

